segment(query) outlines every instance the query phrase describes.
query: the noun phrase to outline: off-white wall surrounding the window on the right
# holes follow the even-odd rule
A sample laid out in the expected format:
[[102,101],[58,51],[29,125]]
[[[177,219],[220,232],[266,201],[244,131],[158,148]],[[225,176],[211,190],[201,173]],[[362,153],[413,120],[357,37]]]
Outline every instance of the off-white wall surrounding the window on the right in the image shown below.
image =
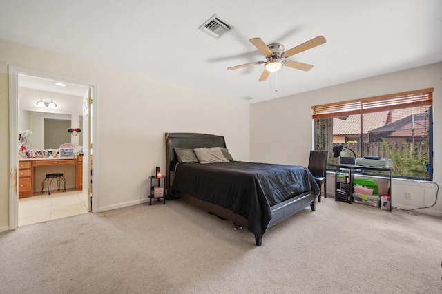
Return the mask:
[[[311,106],[356,98],[394,94],[410,90],[434,88],[434,182],[441,183],[442,136],[438,125],[442,120],[442,63],[411,70],[375,76],[360,81],[264,101],[251,105],[251,161],[278,162],[307,166],[313,146]],[[440,127],[439,127],[440,128]],[[436,185],[432,182],[394,180],[393,204],[410,209],[434,203]],[[334,175],[327,177],[327,191],[334,191]],[[405,192],[414,199],[405,199]],[[440,198],[440,197],[439,197]],[[319,207],[320,209],[320,207]],[[442,200],[430,209],[419,212],[442,216]]]

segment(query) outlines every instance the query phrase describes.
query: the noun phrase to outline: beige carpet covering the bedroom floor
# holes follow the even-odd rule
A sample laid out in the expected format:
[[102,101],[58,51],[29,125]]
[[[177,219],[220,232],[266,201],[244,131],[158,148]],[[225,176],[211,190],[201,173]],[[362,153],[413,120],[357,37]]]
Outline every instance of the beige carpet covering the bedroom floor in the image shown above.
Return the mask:
[[323,198],[252,233],[180,200],[0,233],[0,293],[442,293],[442,219]]

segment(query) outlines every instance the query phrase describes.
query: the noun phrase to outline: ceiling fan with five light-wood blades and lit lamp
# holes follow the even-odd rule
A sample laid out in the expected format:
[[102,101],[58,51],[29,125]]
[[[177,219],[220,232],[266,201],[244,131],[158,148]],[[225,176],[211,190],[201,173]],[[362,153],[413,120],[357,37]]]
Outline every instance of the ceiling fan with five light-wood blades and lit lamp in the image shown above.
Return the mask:
[[[236,65],[232,67],[228,67],[227,70],[236,70],[237,68],[247,67],[251,65],[257,65],[265,63],[264,72],[262,72],[259,81],[265,81],[271,72],[276,72],[282,66],[288,66],[292,68],[296,68],[297,70],[304,70],[305,72],[311,70],[313,65],[307,63],[301,63],[298,61],[292,61],[289,59],[285,59],[287,57],[293,56],[305,50],[309,50],[318,45],[322,45],[326,42],[323,36],[317,36],[310,41],[302,43],[300,45],[295,46],[289,50],[285,50],[284,45],[281,43],[271,43],[266,45],[260,38],[249,39],[250,43],[252,43],[262,54],[264,54],[265,59],[267,61],[256,61],[252,63],[246,63],[242,65]],[[285,60],[280,60],[285,59]]]

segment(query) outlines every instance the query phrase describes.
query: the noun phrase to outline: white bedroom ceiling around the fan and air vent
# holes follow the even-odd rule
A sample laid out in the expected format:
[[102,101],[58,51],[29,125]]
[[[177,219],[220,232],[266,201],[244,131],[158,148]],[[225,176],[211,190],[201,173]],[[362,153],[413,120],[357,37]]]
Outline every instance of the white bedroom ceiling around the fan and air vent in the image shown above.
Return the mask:
[[[213,14],[235,29],[198,30]],[[327,43],[258,82],[248,39]],[[441,0],[1,1],[0,38],[249,103],[442,61]]]

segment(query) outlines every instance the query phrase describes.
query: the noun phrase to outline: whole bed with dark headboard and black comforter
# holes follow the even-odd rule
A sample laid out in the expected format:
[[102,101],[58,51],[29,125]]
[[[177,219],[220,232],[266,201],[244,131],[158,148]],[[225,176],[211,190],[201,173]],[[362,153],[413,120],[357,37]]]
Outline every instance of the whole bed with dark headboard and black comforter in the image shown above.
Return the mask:
[[257,246],[269,227],[309,206],[315,211],[320,189],[306,167],[236,160],[180,163],[176,153],[216,147],[227,150],[223,136],[166,133],[169,198],[180,198],[247,228]]

